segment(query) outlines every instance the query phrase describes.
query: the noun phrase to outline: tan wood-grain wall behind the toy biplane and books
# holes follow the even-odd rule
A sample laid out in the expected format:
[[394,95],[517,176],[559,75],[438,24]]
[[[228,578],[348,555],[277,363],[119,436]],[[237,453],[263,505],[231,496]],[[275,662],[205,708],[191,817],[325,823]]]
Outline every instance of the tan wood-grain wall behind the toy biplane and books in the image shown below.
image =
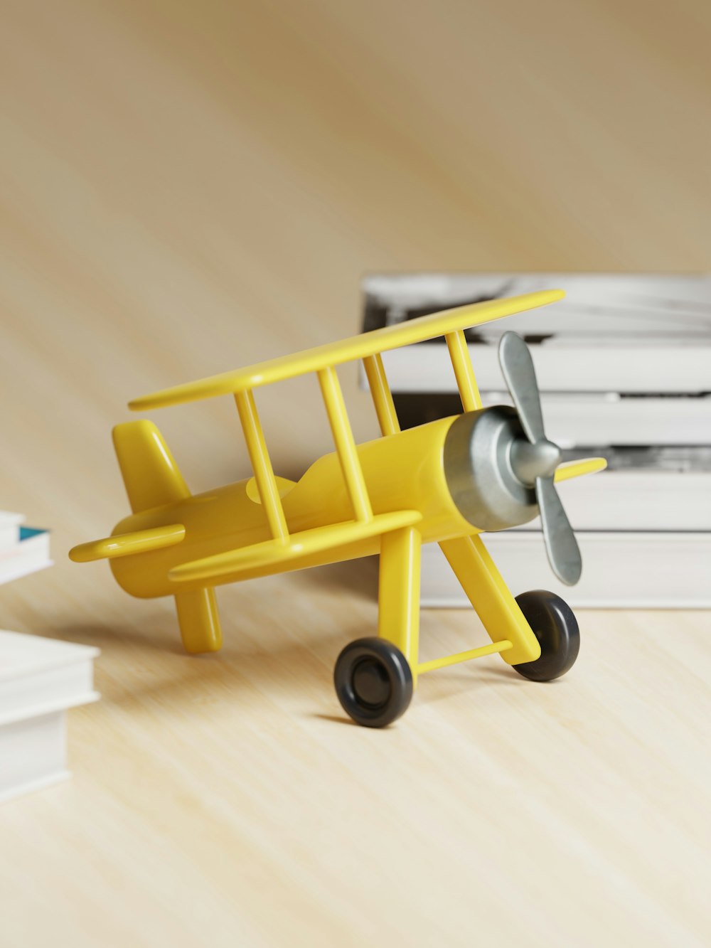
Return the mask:
[[[129,397],[353,333],[364,272],[709,266],[706,3],[0,11],[0,507],[68,541]],[[261,404],[286,472],[328,445],[310,380]],[[244,470],[228,400],[155,420]]]

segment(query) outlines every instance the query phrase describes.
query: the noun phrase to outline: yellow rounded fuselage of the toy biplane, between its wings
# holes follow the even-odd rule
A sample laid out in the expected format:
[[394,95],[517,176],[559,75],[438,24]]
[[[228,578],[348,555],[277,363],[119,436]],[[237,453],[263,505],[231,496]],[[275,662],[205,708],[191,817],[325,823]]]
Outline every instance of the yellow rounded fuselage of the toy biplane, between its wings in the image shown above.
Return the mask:
[[[445,418],[357,447],[374,514],[418,511],[422,520],[417,529],[424,542],[478,532],[459,513],[447,488],[444,443],[453,421]],[[298,483],[282,485],[290,534],[354,518],[336,453],[319,458]],[[112,572],[125,592],[142,598],[174,595],[178,584],[168,575],[173,567],[271,538],[255,484],[249,480],[133,514],[117,524],[113,535],[172,523],[185,527],[185,538],[180,543],[111,560]],[[296,561],[261,565],[238,576],[226,575],[210,585],[369,556],[379,550],[380,538],[369,538]],[[182,592],[204,585],[182,582],[179,589]]]

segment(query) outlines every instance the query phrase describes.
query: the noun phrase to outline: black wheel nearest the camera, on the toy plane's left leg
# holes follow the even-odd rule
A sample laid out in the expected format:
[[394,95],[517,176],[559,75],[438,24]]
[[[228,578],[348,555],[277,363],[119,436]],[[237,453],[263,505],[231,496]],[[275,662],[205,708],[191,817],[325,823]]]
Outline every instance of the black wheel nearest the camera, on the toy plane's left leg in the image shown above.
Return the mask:
[[412,700],[412,672],[386,639],[356,639],[338,655],[336,694],[346,714],[364,727],[387,727]]

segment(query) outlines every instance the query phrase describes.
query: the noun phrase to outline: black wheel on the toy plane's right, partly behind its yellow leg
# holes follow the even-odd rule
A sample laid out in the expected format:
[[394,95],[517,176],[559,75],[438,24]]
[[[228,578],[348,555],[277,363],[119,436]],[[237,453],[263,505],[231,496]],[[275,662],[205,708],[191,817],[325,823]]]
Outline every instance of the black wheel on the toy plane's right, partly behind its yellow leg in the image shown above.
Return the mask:
[[580,629],[573,610],[556,593],[533,590],[516,597],[540,643],[540,658],[535,662],[513,665],[532,682],[551,682],[569,671],[580,650]]

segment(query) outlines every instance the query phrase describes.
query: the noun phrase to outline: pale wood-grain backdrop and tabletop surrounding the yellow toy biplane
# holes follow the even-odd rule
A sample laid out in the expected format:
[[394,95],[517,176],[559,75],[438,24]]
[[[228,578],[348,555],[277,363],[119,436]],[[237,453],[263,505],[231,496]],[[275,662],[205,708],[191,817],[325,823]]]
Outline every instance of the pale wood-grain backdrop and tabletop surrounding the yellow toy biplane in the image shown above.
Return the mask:
[[[0,13],[0,507],[57,559],[0,626],[100,646],[103,696],[0,810],[3,948],[708,944],[708,613],[581,613],[569,678],[451,668],[371,732],[331,675],[373,561],[221,590],[194,659],[66,560],[127,512],[129,398],[351,335],[365,272],[708,269],[708,5]],[[329,448],[315,380],[260,407],[280,473]],[[246,472],[229,399],[154,419],[192,489]],[[426,659],[480,642],[423,617]]]

